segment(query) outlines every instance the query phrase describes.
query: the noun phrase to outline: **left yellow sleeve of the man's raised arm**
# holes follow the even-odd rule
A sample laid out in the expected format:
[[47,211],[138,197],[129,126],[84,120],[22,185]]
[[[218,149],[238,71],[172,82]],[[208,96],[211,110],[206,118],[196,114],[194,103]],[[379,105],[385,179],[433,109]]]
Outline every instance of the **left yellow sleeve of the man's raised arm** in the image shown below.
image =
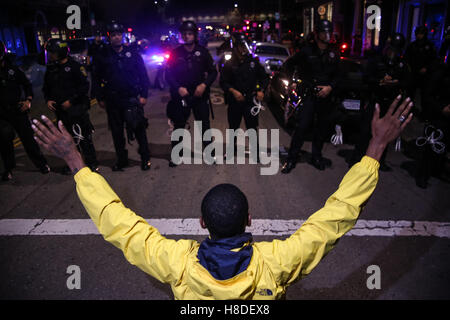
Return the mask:
[[103,238],[142,271],[163,283],[176,284],[196,242],[163,237],[126,208],[105,179],[89,168],[81,169],[74,178],[78,197]]

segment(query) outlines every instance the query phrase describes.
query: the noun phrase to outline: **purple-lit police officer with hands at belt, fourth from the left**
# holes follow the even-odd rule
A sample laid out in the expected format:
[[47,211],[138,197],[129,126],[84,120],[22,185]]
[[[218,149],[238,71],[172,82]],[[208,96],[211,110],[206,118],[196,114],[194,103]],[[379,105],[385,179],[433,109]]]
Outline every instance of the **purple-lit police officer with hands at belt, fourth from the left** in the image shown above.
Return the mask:
[[[167,62],[166,80],[171,96],[167,116],[174,130],[184,128],[192,109],[195,120],[202,122],[203,136],[210,128],[209,88],[217,77],[217,70],[208,49],[198,44],[196,24],[184,21],[179,31],[183,44],[171,52]],[[172,147],[177,143],[172,141]],[[175,164],[169,161],[169,166],[175,167]]]

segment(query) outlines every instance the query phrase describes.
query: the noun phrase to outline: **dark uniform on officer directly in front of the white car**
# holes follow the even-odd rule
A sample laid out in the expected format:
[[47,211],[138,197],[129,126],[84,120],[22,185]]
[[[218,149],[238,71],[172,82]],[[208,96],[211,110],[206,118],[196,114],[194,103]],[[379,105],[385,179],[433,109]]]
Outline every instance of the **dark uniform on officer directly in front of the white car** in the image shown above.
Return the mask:
[[[227,61],[220,75],[220,86],[225,93],[228,103],[228,124],[230,129],[240,127],[244,118],[247,129],[257,129],[258,115],[253,116],[251,109],[254,106],[253,99],[256,91],[263,91],[269,83],[269,78],[260,63],[251,55],[246,55],[242,61],[233,56]],[[245,101],[239,102],[229,91],[233,88],[245,97]]]

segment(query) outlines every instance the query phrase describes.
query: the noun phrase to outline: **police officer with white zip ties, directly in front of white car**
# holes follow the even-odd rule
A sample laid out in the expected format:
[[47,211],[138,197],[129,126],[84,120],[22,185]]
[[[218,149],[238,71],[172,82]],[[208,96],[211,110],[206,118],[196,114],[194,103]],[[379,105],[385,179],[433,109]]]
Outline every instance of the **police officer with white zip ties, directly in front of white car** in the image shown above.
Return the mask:
[[228,103],[228,124],[230,129],[236,130],[244,118],[247,129],[257,130],[260,110],[255,109],[255,102],[263,101],[269,78],[261,64],[250,55],[243,34],[234,34],[231,41],[233,54],[220,75],[220,86]]

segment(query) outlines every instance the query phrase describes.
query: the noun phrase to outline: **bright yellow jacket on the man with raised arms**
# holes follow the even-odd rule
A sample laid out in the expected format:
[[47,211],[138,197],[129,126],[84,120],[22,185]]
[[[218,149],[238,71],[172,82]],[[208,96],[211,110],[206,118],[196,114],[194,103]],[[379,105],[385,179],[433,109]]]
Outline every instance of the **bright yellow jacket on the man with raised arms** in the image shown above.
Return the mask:
[[175,299],[280,299],[355,225],[376,187],[378,168],[378,161],[363,157],[325,206],[293,235],[249,244],[253,253],[246,270],[226,280],[215,279],[199,263],[200,243],[162,236],[126,208],[99,174],[83,168],[75,181],[78,196],[104,239],[122,250],[131,264],[170,284]]

